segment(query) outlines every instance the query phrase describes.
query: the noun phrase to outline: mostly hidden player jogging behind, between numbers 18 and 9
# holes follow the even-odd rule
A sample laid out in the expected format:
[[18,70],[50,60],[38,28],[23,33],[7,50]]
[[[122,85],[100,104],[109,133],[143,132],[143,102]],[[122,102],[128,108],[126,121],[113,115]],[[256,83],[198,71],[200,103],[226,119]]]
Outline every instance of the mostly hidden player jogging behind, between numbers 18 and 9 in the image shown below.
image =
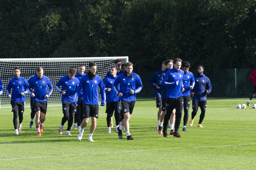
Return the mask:
[[[81,81],[82,77],[86,75],[84,74],[84,71],[85,71],[85,65],[84,64],[79,65],[78,73],[75,74],[75,77],[78,78],[79,82]],[[83,121],[82,115],[83,115],[83,89],[80,91],[78,100],[77,100],[77,112],[75,113],[75,116],[74,116],[75,122],[77,122],[77,123],[74,122],[75,130],[77,129],[77,127],[79,131],[81,130],[81,122]]]

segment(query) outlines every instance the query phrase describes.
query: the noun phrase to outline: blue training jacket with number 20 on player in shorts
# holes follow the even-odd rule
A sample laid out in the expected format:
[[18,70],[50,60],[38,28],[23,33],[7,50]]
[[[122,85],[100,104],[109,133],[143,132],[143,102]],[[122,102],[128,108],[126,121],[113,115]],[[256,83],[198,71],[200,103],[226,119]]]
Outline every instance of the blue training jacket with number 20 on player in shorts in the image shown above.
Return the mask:
[[[119,89],[118,84],[120,84]],[[120,74],[114,83],[114,90],[116,91],[116,94],[123,94],[123,96],[119,97],[119,100],[125,101],[135,101],[136,94],[141,91],[142,87],[141,79],[139,75],[135,73],[130,77],[127,77],[125,74]],[[134,91],[134,94],[130,93],[130,89]]]

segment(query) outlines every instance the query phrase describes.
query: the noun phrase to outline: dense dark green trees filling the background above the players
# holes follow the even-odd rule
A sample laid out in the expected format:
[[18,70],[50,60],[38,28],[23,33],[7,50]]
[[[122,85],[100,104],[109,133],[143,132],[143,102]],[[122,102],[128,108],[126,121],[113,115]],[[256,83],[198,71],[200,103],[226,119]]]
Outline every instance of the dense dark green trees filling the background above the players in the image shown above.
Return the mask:
[[129,56],[138,71],[254,67],[256,1],[2,0],[0,58]]

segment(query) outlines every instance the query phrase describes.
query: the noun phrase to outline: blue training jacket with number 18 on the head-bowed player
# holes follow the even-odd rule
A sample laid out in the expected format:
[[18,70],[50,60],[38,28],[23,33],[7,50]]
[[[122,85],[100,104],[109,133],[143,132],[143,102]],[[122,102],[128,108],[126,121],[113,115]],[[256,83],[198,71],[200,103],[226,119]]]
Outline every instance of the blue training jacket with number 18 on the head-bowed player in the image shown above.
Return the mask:
[[[66,90],[66,94],[61,95],[62,102],[73,103],[78,84],[79,80],[76,77],[69,79],[69,76],[67,75],[60,78],[60,80],[55,85],[55,89],[57,89],[60,94],[63,90]],[[62,86],[62,89],[60,89],[60,86]]]

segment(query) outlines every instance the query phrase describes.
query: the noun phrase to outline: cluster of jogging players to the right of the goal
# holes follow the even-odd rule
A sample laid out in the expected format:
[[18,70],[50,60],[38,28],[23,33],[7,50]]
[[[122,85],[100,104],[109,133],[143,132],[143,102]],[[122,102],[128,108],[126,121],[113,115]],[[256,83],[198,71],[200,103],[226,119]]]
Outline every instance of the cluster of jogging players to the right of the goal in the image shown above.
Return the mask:
[[193,125],[194,117],[200,107],[201,115],[197,127],[203,127],[201,123],[206,111],[206,95],[211,93],[211,82],[203,74],[203,65],[197,67],[197,74],[195,76],[189,72],[189,68],[190,64],[188,62],[182,63],[180,58],[166,60],[162,63],[162,68],[148,79],[149,84],[154,87],[156,105],[159,108],[156,129],[164,137],[168,137],[167,127],[169,120],[171,129],[169,134],[177,138],[182,137],[179,134],[179,126],[183,108],[184,123],[182,131],[187,131],[186,125],[189,118],[188,112],[191,96],[193,96],[193,111],[189,125]]

